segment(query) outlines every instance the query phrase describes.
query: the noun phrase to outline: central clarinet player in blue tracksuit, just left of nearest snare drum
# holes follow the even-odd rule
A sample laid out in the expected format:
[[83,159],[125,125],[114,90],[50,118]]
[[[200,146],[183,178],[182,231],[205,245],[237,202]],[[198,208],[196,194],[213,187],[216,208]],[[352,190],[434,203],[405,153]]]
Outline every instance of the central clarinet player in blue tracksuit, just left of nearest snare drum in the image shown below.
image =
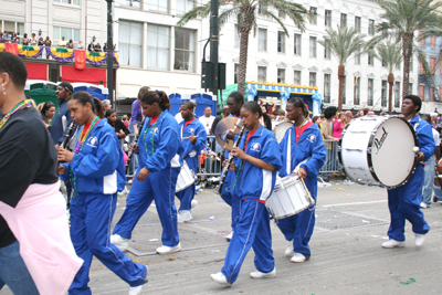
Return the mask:
[[271,196],[276,181],[276,171],[281,168],[281,154],[275,136],[265,129],[260,118],[263,116],[255,102],[245,103],[241,117],[248,129],[239,147],[232,149],[234,164],[230,169],[235,171],[231,186],[235,188],[234,198],[240,200],[241,214],[234,228],[224,266],[211,278],[222,285],[233,284],[240,273],[241,264],[250,247],[255,252],[256,272],[253,278],[273,277],[276,275],[272,251],[270,213],[265,200]]

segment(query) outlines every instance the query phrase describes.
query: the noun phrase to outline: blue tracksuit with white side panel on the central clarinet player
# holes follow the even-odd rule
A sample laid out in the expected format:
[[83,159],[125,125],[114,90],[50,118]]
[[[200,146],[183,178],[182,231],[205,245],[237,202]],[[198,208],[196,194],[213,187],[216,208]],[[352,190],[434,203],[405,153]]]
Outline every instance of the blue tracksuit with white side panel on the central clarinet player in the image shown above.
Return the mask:
[[[249,131],[241,138],[240,148],[244,149]],[[225,254],[221,272],[229,283],[238,278],[241,265],[250,247],[255,252],[256,270],[270,273],[275,268],[272,251],[272,233],[270,213],[265,200],[271,196],[276,181],[276,172],[281,168],[281,154],[273,133],[261,126],[249,138],[245,152],[252,157],[271,164],[275,171],[269,171],[235,158],[235,198],[240,199],[241,214],[233,229],[233,236]],[[234,183],[233,180],[233,183]]]

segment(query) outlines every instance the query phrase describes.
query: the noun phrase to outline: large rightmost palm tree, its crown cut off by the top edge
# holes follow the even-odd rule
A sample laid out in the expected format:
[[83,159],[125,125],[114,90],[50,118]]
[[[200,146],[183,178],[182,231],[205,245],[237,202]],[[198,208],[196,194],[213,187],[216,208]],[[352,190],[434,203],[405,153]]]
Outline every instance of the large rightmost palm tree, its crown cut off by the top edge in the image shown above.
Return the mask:
[[[376,29],[381,34],[375,38],[373,42],[378,43],[382,39],[392,39],[397,43],[402,43],[403,97],[408,94],[409,88],[410,57],[413,52],[414,33],[420,31],[429,33],[431,28],[440,27],[442,17],[433,10],[442,7],[442,2],[433,0],[388,0],[380,1],[379,6],[385,10],[380,18],[387,20],[387,22],[377,25]],[[424,38],[424,34],[420,36],[420,39],[422,38]]]

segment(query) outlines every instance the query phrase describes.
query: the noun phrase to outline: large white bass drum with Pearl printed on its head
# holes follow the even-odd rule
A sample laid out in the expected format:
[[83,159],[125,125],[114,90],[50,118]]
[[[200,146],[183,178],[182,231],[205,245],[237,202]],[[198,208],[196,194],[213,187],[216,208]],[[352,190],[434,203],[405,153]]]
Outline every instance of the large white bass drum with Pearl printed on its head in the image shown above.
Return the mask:
[[392,189],[407,182],[414,172],[417,146],[414,129],[406,119],[361,117],[343,130],[338,157],[352,180]]

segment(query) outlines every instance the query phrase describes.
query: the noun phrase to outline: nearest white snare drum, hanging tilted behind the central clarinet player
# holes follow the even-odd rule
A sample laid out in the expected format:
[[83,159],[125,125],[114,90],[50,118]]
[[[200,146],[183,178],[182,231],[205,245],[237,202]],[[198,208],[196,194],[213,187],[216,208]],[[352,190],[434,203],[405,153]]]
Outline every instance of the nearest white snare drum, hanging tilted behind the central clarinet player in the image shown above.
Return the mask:
[[304,180],[297,176],[286,176],[276,180],[273,193],[265,201],[274,219],[295,215],[315,204]]

